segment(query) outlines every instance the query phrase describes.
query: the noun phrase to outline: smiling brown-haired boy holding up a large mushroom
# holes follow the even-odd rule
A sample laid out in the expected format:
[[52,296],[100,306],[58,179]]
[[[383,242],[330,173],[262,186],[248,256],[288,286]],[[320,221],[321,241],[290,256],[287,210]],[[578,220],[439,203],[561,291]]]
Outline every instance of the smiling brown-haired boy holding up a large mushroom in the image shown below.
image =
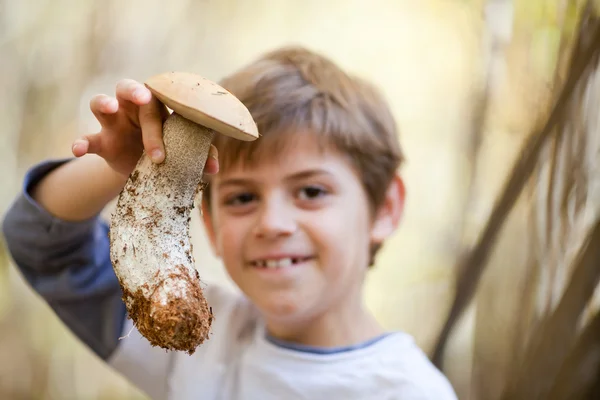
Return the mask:
[[75,160],[28,173],[4,221],[25,278],[155,399],[455,399],[412,338],[385,332],[361,300],[404,202],[383,99],[302,48],[265,54],[221,84],[262,136],[217,135],[207,162],[204,226],[241,293],[207,285],[215,321],[194,355],[152,348],[126,318],[98,218],[143,149],[164,158],[166,110],[137,82],[92,99],[102,129],[74,143]]

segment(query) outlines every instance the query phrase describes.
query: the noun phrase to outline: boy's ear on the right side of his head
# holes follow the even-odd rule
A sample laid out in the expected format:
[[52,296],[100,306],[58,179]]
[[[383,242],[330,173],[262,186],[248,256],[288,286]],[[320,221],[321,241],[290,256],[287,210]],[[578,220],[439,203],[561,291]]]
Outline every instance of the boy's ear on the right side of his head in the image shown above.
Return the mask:
[[371,241],[383,243],[398,227],[404,212],[406,189],[400,175],[395,174],[388,186],[383,204],[379,207],[371,229]]

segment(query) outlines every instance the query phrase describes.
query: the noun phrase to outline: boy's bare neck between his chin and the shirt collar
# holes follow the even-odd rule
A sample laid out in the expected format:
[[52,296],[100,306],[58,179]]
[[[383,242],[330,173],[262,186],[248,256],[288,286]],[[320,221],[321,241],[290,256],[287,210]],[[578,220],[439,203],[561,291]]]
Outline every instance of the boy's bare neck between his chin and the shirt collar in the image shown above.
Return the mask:
[[267,331],[278,340],[325,348],[360,344],[385,332],[364,307],[345,311],[324,313],[296,323],[267,321]]

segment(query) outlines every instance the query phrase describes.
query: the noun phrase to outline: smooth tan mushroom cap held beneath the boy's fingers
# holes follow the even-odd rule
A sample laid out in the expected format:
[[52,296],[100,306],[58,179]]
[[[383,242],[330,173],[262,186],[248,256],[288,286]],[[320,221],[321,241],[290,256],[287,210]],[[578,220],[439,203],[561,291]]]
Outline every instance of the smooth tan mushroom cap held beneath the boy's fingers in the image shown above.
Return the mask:
[[246,106],[225,88],[200,75],[167,72],[145,82],[173,112],[232,138],[252,141],[258,128]]

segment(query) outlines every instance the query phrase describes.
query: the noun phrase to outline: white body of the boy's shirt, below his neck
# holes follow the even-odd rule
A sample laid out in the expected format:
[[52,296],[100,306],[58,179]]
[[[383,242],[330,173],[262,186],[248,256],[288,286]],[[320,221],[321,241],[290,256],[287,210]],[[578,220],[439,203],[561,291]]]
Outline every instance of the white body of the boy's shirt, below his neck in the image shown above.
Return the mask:
[[215,320],[193,355],[151,347],[128,320],[109,364],[153,399],[456,399],[405,333],[334,352],[291,348],[267,338],[244,297],[218,286],[205,295]]

